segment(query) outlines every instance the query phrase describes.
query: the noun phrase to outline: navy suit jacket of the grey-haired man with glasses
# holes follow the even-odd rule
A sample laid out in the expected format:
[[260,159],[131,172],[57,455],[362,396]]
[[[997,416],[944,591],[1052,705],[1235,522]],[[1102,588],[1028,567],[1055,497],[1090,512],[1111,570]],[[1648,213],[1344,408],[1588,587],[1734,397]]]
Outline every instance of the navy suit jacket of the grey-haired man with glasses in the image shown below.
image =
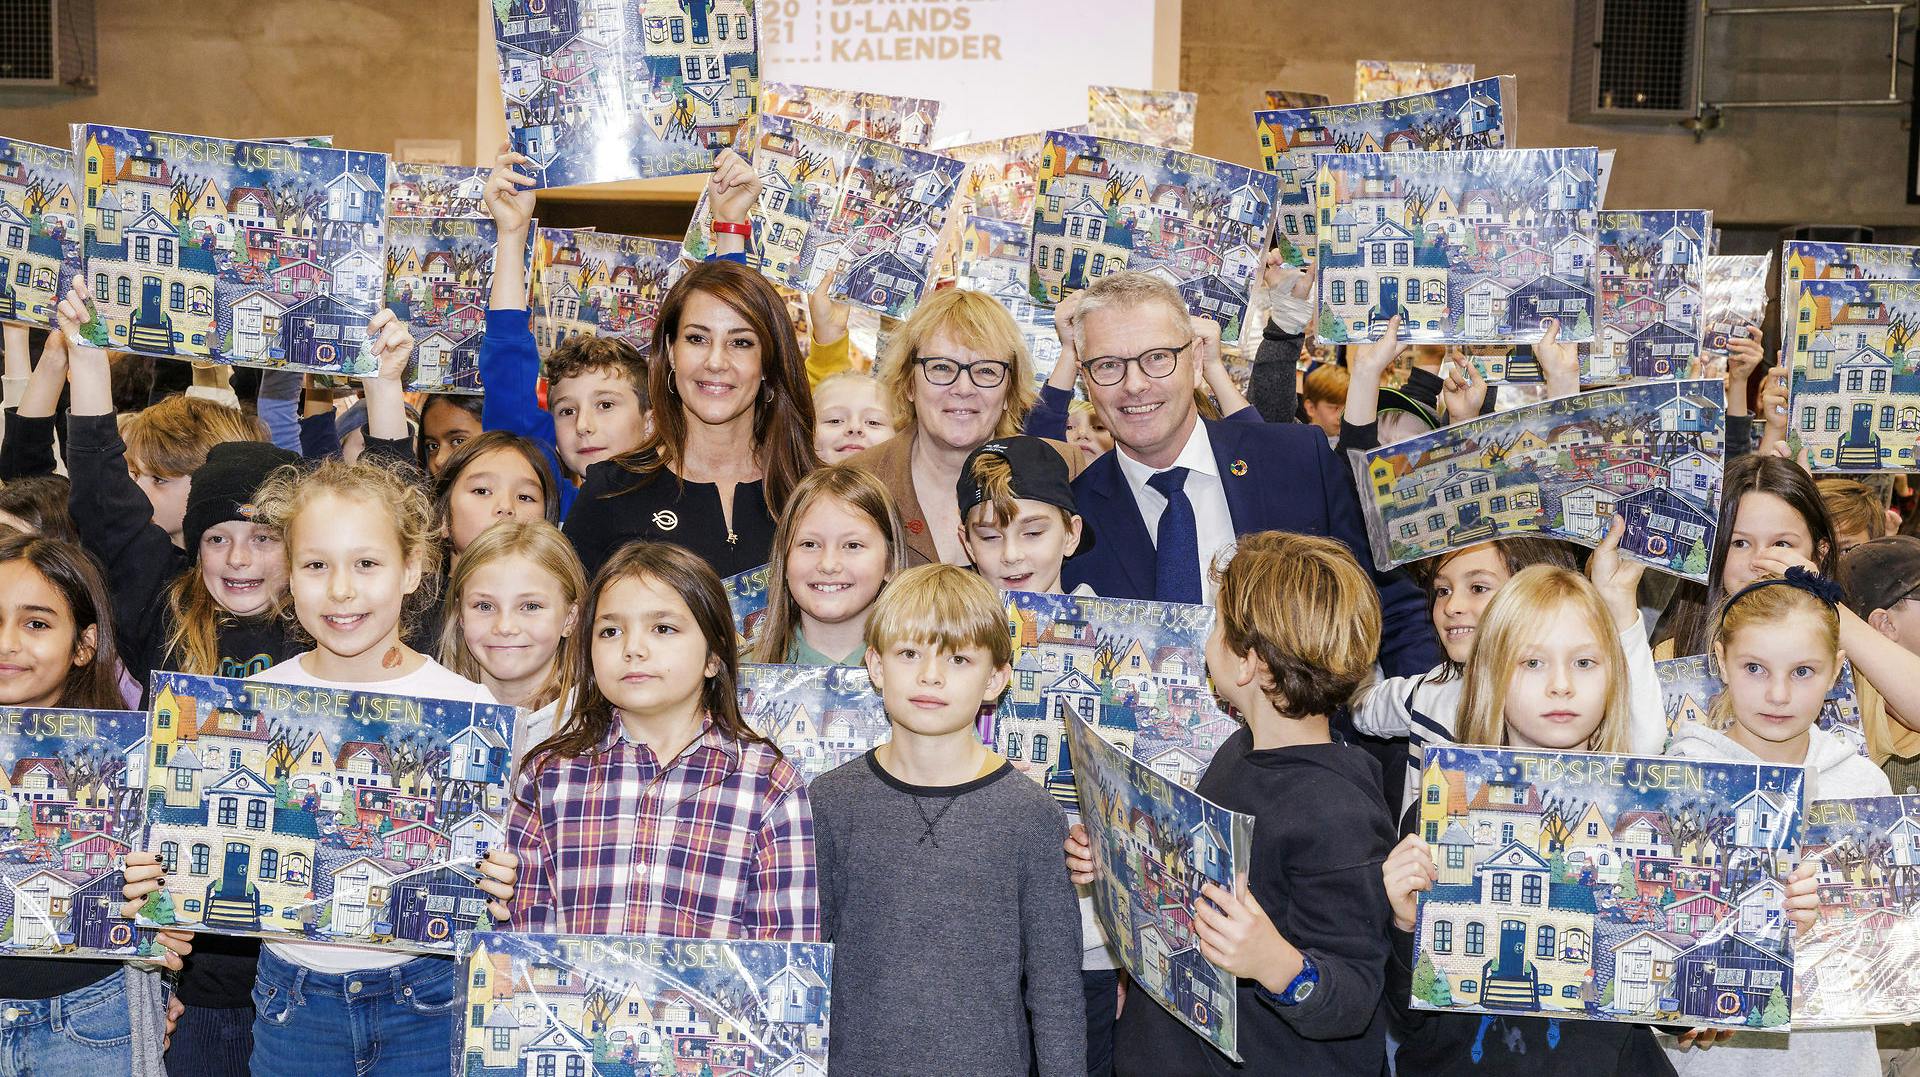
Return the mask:
[[[1354,476],[1319,426],[1302,422],[1206,422],[1227,490],[1235,534],[1294,532],[1336,538],[1373,574],[1380,591],[1380,668],[1386,676],[1417,676],[1440,662],[1440,641],[1427,612],[1427,595],[1405,572],[1373,566],[1367,524],[1359,515]],[[1068,559],[1062,584],[1087,584],[1100,597],[1154,597],[1154,538],[1119,470],[1119,449],[1100,455],[1073,480],[1094,545]]]

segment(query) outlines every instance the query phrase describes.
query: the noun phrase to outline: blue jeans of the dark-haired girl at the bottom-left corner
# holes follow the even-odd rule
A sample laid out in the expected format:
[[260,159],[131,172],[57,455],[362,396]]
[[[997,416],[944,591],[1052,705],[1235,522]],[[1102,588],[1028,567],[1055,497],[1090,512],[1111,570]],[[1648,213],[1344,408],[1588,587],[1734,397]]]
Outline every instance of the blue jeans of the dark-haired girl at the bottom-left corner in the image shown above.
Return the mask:
[[131,1077],[127,971],[54,998],[0,1000],[0,1077]]

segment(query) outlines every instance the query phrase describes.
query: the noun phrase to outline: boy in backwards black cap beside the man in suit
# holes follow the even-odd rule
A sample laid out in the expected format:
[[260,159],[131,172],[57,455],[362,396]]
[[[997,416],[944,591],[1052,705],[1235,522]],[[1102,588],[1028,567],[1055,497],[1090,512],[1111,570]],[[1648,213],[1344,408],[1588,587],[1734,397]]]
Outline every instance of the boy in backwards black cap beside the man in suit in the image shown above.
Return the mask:
[[995,438],[973,449],[956,490],[960,545],[1002,591],[1056,595],[1066,559],[1092,547],[1068,465],[1041,438]]

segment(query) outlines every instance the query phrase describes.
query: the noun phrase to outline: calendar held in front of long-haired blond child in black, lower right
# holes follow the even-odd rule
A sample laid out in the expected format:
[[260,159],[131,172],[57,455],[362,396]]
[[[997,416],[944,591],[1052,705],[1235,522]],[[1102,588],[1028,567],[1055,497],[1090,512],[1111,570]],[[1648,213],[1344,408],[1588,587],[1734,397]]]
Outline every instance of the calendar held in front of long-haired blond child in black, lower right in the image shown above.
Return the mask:
[[1413,1006],[1788,1031],[1797,766],[1430,747]]

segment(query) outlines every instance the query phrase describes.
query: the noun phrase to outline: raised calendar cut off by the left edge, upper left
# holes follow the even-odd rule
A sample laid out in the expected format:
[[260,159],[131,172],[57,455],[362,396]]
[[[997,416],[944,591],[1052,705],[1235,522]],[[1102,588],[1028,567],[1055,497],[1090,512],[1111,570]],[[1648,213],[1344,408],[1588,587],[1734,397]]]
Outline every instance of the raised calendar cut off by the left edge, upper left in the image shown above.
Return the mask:
[[73,150],[0,138],[0,323],[54,328],[81,267]]

